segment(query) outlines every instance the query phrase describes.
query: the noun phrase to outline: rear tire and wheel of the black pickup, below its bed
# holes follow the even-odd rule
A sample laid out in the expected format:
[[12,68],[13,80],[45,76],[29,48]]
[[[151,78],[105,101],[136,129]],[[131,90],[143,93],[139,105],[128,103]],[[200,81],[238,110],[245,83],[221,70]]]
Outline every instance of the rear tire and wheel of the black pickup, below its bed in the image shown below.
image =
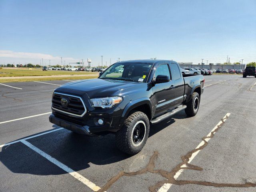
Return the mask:
[[185,112],[188,116],[192,117],[195,116],[198,112],[200,104],[200,96],[197,92],[194,92],[191,96],[190,101],[186,104],[187,108]]

